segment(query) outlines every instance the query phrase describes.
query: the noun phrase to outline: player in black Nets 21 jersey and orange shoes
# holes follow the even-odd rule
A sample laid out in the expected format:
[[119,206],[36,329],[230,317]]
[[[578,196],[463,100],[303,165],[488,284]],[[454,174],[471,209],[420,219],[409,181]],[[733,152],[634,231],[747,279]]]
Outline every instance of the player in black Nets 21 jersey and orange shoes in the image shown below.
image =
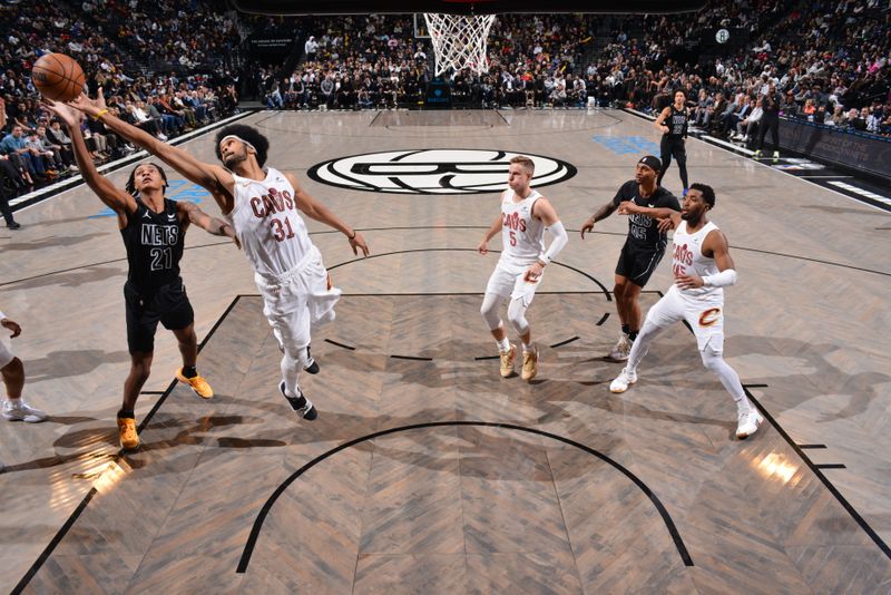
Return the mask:
[[59,103],[46,104],[68,127],[77,165],[92,192],[117,213],[118,227],[127,248],[127,283],[124,300],[127,311],[127,344],[130,373],[124,382],[124,404],[118,411],[118,432],[124,450],[139,447],[136,431],[136,400],[148,380],[158,322],[173,331],[183,354],[176,378],[202,398],[214,391],[195,369],[198,345],[195,314],[179,277],[179,260],[186,230],[194,223],[214,235],[234,240],[229,224],[210,217],[193,203],[164,197],[167,177],[155,164],[140,164],[130,173],[127,192],[99,175],[80,131],[81,113]]

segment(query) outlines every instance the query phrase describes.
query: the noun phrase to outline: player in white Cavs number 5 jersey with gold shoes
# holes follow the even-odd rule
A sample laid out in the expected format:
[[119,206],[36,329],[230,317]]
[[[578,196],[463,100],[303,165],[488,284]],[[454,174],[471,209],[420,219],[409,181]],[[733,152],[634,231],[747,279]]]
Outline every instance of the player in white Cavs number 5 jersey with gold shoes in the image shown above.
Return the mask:
[[[501,231],[501,257],[489,277],[480,313],[498,343],[501,375],[508,378],[513,374],[517,347],[508,342],[498,311],[506,300],[510,300],[508,320],[522,340],[521,377],[527,381],[538,373],[538,349],[532,343],[526,310],[532,303],[545,267],[569,241],[554,206],[538,191],[529,187],[533,173],[535,164],[529,157],[518,155],[510,159],[509,188],[501,193],[501,213],[477,246],[480,254],[488,254],[489,240]],[[554,236],[547,251],[545,228]]]

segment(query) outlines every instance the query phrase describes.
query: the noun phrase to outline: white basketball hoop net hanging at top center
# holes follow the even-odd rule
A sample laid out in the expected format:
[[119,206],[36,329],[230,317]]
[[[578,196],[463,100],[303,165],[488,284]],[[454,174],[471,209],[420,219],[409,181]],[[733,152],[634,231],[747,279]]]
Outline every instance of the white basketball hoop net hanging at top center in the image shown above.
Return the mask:
[[486,48],[495,14],[468,17],[424,12],[424,20],[433,41],[437,76],[449,68],[456,71],[470,68],[478,75],[489,71]]

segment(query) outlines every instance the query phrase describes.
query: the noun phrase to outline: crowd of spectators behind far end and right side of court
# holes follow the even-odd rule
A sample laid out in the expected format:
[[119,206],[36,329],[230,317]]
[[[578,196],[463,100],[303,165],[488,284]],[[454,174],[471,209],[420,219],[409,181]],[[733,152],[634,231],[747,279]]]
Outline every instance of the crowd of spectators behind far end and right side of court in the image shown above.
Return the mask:
[[[410,17],[293,22],[307,32],[303,60],[290,75],[255,69],[267,107],[423,101],[433,79],[432,47],[414,37]],[[489,33],[489,72],[466,69],[448,82],[459,106],[647,113],[683,89],[699,126],[740,140],[753,136],[765,101],[787,117],[889,135],[890,23],[888,3],[878,0],[713,1],[697,13],[667,16],[500,14]],[[742,31],[750,41],[697,55],[703,32],[717,28]]]

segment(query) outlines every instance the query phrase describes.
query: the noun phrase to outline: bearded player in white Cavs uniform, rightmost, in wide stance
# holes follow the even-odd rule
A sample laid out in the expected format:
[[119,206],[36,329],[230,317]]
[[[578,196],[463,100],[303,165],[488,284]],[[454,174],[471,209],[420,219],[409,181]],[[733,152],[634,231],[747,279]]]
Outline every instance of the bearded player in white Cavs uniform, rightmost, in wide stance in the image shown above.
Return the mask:
[[670,218],[670,225],[675,227],[672,259],[675,283],[647,312],[644,328],[628,355],[628,363],[609,384],[609,390],[625,392],[637,382],[637,365],[656,335],[675,322],[685,320],[696,335],[703,364],[717,374],[736,401],[736,437],[745,439],[757,431],[764,418],[746,398],[740,375],[723,357],[724,287],[736,283],[736,271],[727,238],[706,216],[714,206],[715,191],[705,184],[691,185],[681,213],[669,208],[642,207],[633,202],[619,205],[623,215]]

